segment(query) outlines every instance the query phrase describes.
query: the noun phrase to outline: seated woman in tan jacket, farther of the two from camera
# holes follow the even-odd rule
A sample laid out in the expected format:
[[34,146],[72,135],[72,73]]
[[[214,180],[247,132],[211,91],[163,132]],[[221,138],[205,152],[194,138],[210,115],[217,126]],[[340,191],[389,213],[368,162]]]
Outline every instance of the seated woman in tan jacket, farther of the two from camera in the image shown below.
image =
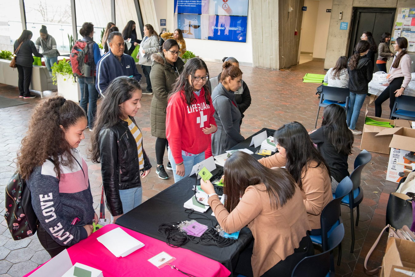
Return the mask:
[[275,132],[278,153],[259,160],[265,167],[286,167],[301,189],[311,235],[320,235],[320,214],[333,200],[330,168],[312,144],[304,126],[284,124]]

